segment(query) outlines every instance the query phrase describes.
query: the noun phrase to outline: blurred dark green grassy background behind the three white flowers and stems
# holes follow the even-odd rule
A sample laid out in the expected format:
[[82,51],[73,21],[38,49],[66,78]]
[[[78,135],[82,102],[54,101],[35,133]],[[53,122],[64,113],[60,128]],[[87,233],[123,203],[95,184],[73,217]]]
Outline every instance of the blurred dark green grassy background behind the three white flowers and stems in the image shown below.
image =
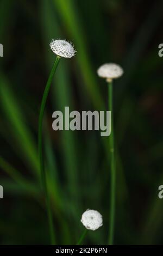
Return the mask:
[[46,107],[44,142],[56,243],[75,244],[86,209],[103,215],[103,227],[85,244],[105,245],[109,227],[108,138],[98,131],[52,130],[52,113],[106,110],[107,87],[97,68],[115,62],[115,244],[162,244],[162,1],[0,1],[1,245],[49,244],[40,190],[37,123],[55,60],[54,39],[73,42],[76,57],[61,59]]

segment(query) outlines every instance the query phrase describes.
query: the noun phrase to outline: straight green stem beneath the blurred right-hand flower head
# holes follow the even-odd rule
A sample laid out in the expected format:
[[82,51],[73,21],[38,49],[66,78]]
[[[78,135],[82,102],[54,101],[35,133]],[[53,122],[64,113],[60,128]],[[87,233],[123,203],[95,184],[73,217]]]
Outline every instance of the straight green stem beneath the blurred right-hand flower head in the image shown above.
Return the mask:
[[114,228],[115,228],[116,169],[115,169],[115,152],[114,152],[114,118],[113,118],[113,104],[112,104],[112,81],[108,83],[108,93],[109,93],[109,97],[108,97],[109,111],[111,111],[111,134],[109,137],[110,161],[111,161],[109,245],[113,245]]

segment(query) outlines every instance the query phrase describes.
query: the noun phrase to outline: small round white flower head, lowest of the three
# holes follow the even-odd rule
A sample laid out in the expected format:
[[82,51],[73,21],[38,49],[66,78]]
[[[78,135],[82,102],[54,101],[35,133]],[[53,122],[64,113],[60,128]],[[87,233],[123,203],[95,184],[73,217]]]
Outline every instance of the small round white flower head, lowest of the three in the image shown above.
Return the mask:
[[87,209],[82,215],[81,222],[86,229],[96,230],[103,225],[103,217],[98,211]]

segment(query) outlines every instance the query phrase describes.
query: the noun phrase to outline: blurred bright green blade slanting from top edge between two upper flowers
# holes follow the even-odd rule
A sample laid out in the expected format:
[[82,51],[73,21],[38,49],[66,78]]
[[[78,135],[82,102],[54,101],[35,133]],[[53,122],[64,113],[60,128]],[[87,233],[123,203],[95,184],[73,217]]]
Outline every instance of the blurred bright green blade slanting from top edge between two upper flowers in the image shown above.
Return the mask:
[[81,23],[79,22],[79,13],[77,7],[74,7],[72,0],[53,0],[55,8],[62,22],[65,24],[71,40],[77,48],[77,61],[82,72],[86,90],[89,93],[94,106],[98,109],[104,109],[102,94],[96,81],[96,70],[92,71],[89,52],[86,48],[86,38]]

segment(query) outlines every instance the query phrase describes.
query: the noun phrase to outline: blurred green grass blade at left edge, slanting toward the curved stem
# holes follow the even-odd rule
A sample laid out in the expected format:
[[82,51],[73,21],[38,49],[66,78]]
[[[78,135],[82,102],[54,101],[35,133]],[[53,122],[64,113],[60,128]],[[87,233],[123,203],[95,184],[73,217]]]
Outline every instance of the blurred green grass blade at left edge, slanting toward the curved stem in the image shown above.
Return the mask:
[[12,92],[9,81],[2,74],[0,76],[0,99],[4,117],[8,121],[8,132],[16,139],[17,150],[20,150],[20,155],[30,169],[33,172],[35,170],[38,174],[39,162],[34,138],[26,125],[26,119]]

